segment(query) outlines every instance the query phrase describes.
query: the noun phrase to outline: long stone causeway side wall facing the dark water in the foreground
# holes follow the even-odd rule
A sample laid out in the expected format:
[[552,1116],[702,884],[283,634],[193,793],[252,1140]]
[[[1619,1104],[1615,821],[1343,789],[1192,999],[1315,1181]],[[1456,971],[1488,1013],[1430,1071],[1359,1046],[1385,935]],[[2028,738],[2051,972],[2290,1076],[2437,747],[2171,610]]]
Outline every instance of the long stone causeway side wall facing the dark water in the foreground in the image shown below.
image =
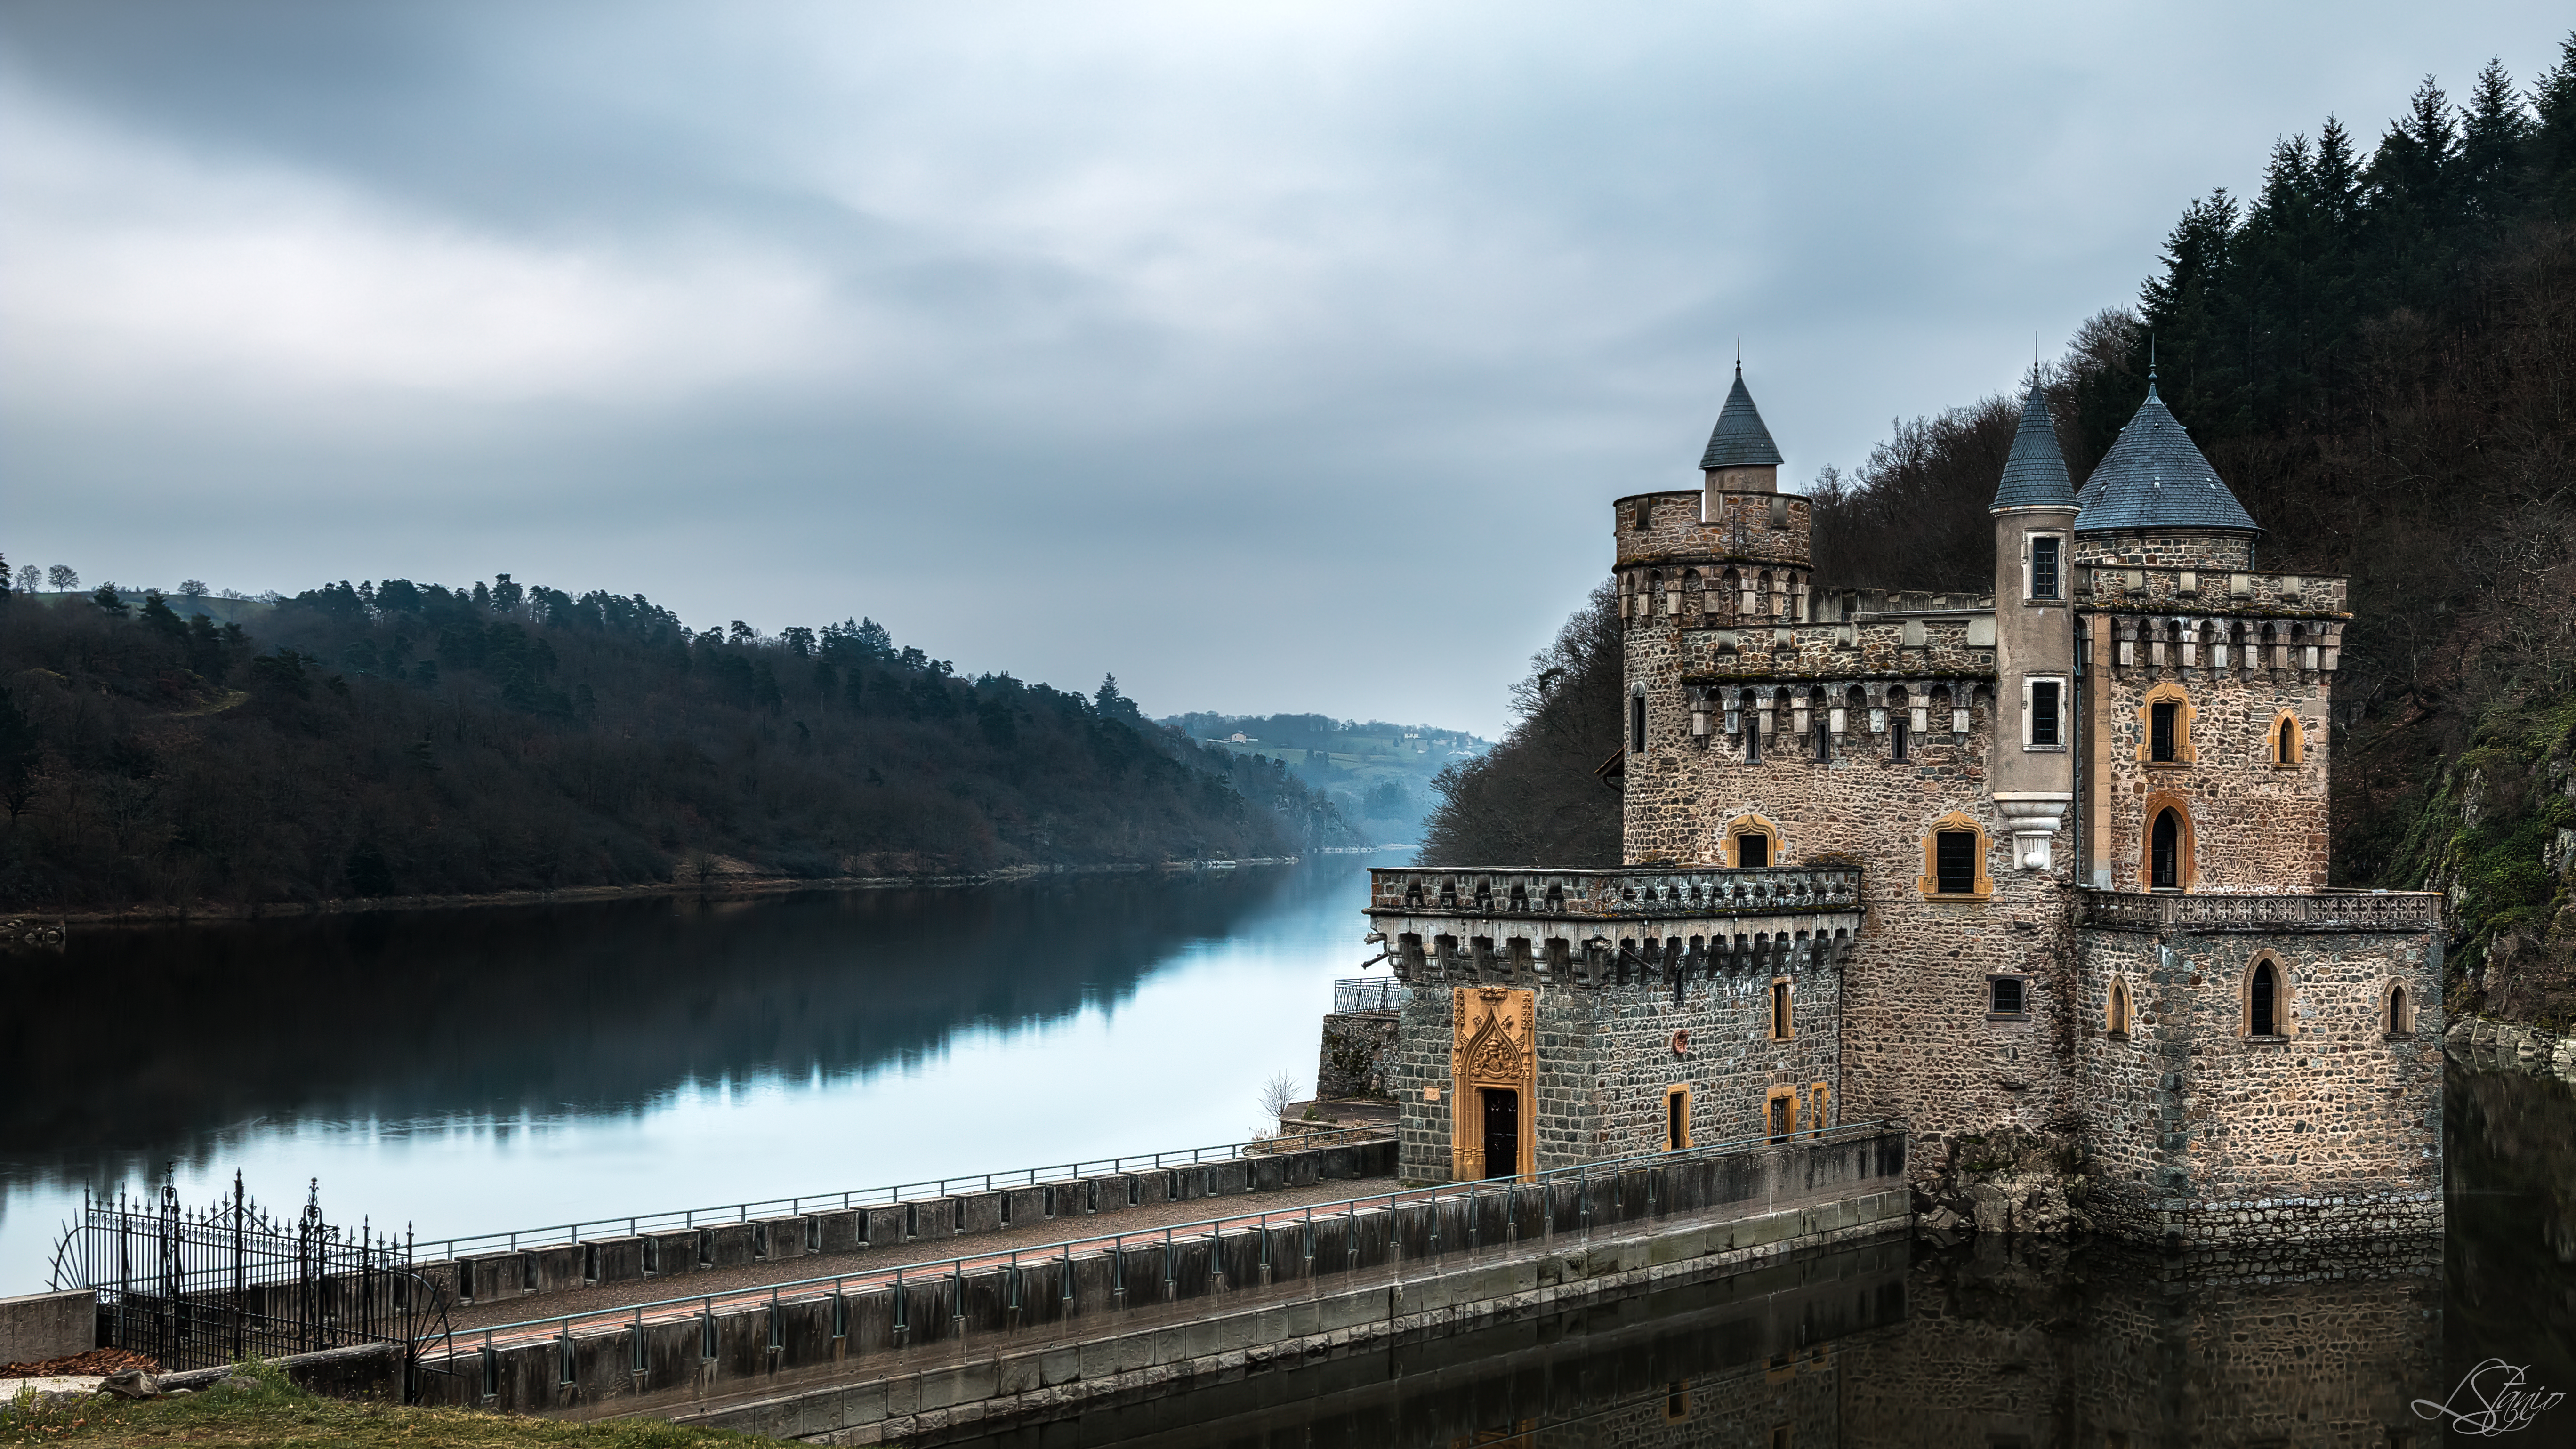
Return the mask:
[[[925,1413],[1252,1351],[1388,1333],[1533,1294],[1901,1230],[1901,1132],[1685,1158],[1582,1178],[1319,1212],[1224,1235],[1046,1248],[835,1292],[459,1338],[430,1403],[600,1418],[657,1413],[762,1434],[912,1434]],[[868,1441],[868,1439],[845,1439]]]

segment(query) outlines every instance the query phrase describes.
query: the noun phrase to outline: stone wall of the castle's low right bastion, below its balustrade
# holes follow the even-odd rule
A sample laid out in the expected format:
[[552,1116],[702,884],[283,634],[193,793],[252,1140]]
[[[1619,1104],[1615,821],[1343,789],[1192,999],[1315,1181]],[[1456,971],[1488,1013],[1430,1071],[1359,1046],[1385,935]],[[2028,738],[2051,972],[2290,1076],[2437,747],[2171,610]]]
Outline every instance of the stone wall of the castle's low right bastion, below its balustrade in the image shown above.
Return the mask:
[[[2184,1243],[2442,1230],[2442,957],[2427,936],[2084,931],[2076,1075],[2094,1222]],[[2246,980],[2285,977],[2280,1042]],[[2107,1026],[2110,987],[2133,1024]],[[2414,1031],[2385,1034],[2403,985]]]

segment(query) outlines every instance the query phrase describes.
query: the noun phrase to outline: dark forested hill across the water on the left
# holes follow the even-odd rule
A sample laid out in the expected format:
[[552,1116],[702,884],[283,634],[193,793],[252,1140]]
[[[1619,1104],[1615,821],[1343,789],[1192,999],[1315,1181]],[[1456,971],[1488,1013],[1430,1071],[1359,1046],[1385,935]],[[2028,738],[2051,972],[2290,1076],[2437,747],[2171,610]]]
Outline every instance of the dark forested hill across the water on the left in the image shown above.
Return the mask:
[[[5,575],[0,575],[5,578]],[[258,905],[1358,843],[1105,681],[956,678],[871,621],[335,583],[0,598],[0,905]],[[193,616],[191,616],[193,614]]]

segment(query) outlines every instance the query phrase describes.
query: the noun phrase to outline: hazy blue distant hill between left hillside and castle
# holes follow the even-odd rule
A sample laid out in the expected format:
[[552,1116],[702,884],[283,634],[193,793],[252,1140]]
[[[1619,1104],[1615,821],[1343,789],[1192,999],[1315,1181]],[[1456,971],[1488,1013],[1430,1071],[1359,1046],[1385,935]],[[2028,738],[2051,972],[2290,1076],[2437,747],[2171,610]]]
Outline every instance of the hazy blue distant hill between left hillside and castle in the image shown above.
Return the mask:
[[1466,730],[1329,714],[1164,714],[1162,722],[1203,748],[1285,763],[1378,846],[1419,841],[1437,799],[1432,779],[1494,748]]

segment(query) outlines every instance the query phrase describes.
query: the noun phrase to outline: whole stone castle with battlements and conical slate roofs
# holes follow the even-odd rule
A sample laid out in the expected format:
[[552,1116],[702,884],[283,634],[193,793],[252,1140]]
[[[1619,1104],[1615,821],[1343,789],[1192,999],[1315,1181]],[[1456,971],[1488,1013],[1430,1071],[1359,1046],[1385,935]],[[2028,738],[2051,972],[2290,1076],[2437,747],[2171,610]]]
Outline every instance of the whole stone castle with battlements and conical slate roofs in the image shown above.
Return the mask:
[[2439,897],[2326,884],[2344,580],[2154,376],[2081,490],[2032,387],[1994,593],[1814,578],[1780,464],[1739,369],[1613,505],[1625,866],[1373,871],[1401,1176],[1893,1119],[2128,1238],[2439,1232]]

